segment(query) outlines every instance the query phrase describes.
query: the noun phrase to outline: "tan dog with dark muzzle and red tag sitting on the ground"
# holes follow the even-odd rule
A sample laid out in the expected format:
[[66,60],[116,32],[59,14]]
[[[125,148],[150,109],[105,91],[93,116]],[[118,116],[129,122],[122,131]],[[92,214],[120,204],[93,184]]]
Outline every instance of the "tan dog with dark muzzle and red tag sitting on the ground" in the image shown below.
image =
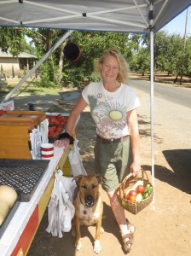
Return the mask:
[[94,252],[100,253],[100,234],[104,230],[101,227],[103,202],[99,193],[99,184],[103,177],[101,175],[78,175],[74,179],[78,186],[78,193],[74,200],[75,214],[73,218],[73,225],[75,226],[73,231],[76,236],[75,247],[78,251],[82,248],[80,224],[87,226],[96,224]]

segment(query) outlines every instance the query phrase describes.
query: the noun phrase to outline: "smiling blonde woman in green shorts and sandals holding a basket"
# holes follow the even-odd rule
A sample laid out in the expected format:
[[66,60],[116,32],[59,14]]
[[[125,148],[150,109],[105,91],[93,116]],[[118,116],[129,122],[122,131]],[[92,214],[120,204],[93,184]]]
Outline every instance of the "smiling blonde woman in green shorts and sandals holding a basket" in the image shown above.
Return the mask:
[[114,217],[119,225],[124,252],[129,253],[135,227],[126,222],[115,190],[129,172],[136,176],[141,170],[139,131],[136,108],[140,105],[136,93],[126,84],[128,65],[117,49],[109,49],[96,62],[101,82],[90,83],[82,92],[67,120],[66,132],[55,146],[72,143],[72,131],[79,113],[90,105],[96,122],[96,172],[105,177],[102,184],[107,191]]

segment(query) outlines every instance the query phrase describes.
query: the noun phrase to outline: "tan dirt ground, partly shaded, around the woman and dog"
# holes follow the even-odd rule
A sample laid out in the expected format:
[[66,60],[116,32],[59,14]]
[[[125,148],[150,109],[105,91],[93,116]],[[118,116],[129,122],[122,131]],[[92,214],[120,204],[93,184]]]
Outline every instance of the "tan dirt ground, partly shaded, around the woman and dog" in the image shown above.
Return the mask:
[[[185,90],[190,90],[185,88]],[[151,129],[149,95],[136,90],[142,107],[138,108],[141,135],[142,168],[151,177]],[[42,101],[42,99],[41,99]],[[154,201],[142,212],[134,215],[125,212],[136,225],[135,244],[130,255],[134,256],[184,256],[190,255],[191,237],[191,114],[189,108],[154,100]],[[49,112],[68,112],[73,102],[49,100]],[[47,111],[48,109],[46,109]],[[86,172],[94,172],[95,125],[86,108],[78,123],[78,147]],[[104,201],[100,255],[124,255],[118,226],[113,218],[106,193],[101,190]],[[47,212],[34,237],[28,256],[80,256],[93,253],[95,227],[82,227],[80,252],[74,248],[71,233],[62,238],[45,231],[48,226]]]

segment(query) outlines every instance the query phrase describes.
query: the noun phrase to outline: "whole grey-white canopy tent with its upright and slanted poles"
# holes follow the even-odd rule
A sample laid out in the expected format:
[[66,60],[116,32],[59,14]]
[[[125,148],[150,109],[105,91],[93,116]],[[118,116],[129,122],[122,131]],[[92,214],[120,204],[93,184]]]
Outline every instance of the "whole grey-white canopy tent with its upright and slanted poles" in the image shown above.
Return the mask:
[[[0,0],[0,26],[69,30],[32,69],[33,73],[73,30],[150,33],[151,165],[153,160],[153,33],[191,5],[190,0]],[[31,73],[26,74],[27,79]],[[18,88],[20,83],[14,88]],[[5,97],[8,100],[11,93]],[[153,196],[154,198],[154,196]]]

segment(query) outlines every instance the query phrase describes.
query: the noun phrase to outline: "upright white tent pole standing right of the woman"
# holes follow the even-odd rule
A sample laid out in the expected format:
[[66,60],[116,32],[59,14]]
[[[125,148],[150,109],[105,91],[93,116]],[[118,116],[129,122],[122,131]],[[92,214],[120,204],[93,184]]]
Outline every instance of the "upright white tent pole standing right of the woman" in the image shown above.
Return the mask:
[[153,202],[154,196],[154,147],[153,147],[153,31],[150,32],[150,119],[151,119],[151,166],[152,166],[152,184],[153,184]]

